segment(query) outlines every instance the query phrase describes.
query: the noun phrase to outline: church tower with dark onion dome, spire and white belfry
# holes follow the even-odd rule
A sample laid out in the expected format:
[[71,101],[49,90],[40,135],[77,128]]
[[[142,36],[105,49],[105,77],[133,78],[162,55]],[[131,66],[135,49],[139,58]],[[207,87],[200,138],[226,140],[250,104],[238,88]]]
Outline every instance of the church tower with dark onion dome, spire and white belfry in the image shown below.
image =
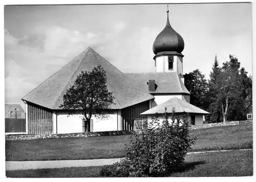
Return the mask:
[[177,72],[178,75],[183,75],[181,52],[184,50],[184,40],[170,26],[168,5],[166,12],[166,26],[158,34],[153,44],[156,72]]

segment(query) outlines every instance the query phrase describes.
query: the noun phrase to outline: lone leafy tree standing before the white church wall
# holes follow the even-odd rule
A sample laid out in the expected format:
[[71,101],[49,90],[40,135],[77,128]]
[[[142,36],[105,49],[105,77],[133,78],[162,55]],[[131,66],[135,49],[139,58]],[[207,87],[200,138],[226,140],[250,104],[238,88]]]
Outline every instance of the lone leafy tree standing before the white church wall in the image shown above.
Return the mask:
[[102,110],[109,109],[114,97],[106,85],[106,72],[99,65],[91,72],[81,72],[74,84],[67,89],[60,107],[72,113],[82,112],[90,131],[93,115],[106,117]]

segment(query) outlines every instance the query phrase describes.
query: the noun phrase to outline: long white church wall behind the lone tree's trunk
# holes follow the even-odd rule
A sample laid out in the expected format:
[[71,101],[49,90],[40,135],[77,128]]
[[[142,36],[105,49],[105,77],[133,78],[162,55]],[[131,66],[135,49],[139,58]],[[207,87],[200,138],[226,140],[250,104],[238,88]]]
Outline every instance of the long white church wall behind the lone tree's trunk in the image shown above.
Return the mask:
[[[56,113],[56,132],[57,133],[80,133],[83,132],[83,115],[69,115],[69,112]],[[121,111],[108,111],[106,112],[108,118],[97,118],[92,116],[91,131],[115,131],[121,128]],[[118,120],[120,118],[120,120]],[[118,123],[117,123],[118,122]]]

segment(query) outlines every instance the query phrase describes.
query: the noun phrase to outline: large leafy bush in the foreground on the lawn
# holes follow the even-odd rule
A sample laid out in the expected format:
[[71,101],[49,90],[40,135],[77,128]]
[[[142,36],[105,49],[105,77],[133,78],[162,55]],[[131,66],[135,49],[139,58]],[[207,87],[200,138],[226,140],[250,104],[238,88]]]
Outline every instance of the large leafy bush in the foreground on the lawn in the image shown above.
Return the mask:
[[[174,121],[174,120],[173,120]],[[167,118],[160,124],[159,120],[145,123],[141,132],[131,137],[126,145],[126,160],[102,168],[102,176],[142,177],[167,176],[179,170],[184,162],[187,150],[194,140],[189,139],[188,123],[170,123]]]

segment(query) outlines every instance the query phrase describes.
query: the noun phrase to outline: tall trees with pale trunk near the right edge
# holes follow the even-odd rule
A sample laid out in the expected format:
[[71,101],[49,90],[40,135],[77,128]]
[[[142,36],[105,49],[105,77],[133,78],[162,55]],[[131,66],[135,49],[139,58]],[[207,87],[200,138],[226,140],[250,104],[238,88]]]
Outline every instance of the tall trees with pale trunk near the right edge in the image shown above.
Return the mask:
[[227,120],[240,120],[244,109],[251,102],[251,79],[240,62],[232,55],[229,61],[218,66],[215,59],[209,79],[208,98],[211,113],[206,119],[210,122],[226,122]]

